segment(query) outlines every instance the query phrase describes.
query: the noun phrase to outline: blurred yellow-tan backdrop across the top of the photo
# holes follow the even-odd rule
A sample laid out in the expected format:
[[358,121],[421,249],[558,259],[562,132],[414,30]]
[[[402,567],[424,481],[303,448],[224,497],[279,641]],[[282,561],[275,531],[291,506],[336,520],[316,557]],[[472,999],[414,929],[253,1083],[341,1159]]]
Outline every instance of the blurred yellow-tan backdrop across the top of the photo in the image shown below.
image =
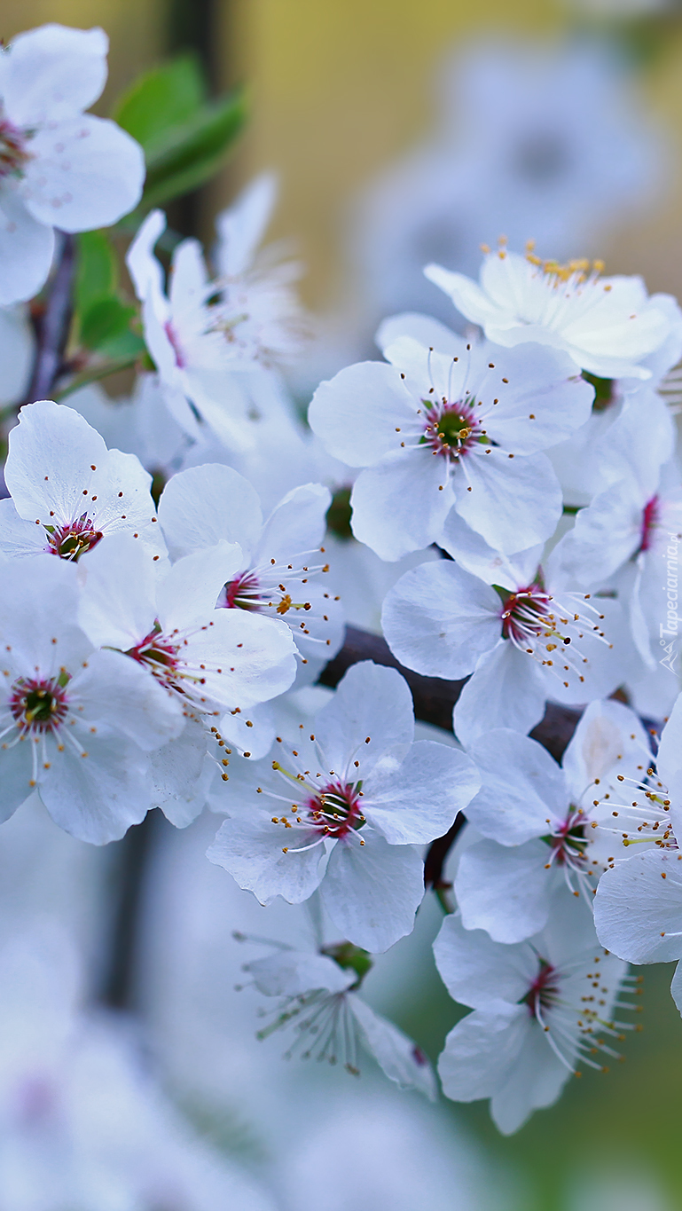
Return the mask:
[[[177,25],[183,0],[172,4]],[[297,239],[308,269],[303,293],[313,306],[333,298],[345,200],[429,128],[434,65],[443,48],[481,31],[556,40],[579,19],[571,0],[184,4],[195,16],[202,10],[212,25],[216,82],[248,81],[253,104],[241,149],[206,199],[205,234],[208,216],[239,184],[264,167],[276,168],[282,194],[273,235]],[[46,21],[107,29],[110,80],[101,111],[172,44],[173,8],[167,0],[4,0],[6,40]],[[642,70],[641,82],[672,132],[672,160],[682,162],[681,21],[665,27],[659,53]],[[672,185],[658,212],[644,225],[619,230],[603,256],[611,271],[643,272],[651,289],[681,294],[682,184],[677,165],[671,170]]]

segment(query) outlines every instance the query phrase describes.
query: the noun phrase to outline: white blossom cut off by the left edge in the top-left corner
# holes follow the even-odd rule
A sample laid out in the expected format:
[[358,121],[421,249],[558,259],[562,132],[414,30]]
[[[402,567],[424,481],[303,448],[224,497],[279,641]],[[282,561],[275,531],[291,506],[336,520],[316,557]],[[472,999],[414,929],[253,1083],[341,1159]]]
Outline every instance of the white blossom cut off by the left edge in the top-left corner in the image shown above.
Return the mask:
[[41,25],[0,62],[0,304],[33,298],[50,272],[53,228],[109,226],[139,201],[142,148],[84,114],[107,80],[102,29]]

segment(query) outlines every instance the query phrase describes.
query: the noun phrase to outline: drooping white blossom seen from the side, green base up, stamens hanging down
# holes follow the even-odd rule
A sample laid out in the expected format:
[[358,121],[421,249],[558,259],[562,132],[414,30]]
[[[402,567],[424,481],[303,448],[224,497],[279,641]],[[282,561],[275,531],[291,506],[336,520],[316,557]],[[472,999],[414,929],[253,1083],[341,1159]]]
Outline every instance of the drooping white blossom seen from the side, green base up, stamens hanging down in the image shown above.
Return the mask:
[[424,1052],[357,993],[371,965],[367,952],[348,942],[320,953],[282,948],[246,963],[243,970],[258,992],[280,998],[258,1037],[291,1028],[296,1039],[288,1056],[339,1062],[354,1074],[360,1072],[362,1048],[401,1089],[417,1089],[435,1101],[436,1080]]

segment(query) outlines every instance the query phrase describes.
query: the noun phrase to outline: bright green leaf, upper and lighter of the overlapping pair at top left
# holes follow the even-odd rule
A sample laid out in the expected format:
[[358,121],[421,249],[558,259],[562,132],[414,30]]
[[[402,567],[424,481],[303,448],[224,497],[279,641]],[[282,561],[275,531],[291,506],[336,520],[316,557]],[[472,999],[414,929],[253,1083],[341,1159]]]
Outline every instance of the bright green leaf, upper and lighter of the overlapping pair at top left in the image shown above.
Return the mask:
[[206,86],[197,59],[182,56],[145,71],[121,97],[114,120],[147,153],[204,105]]

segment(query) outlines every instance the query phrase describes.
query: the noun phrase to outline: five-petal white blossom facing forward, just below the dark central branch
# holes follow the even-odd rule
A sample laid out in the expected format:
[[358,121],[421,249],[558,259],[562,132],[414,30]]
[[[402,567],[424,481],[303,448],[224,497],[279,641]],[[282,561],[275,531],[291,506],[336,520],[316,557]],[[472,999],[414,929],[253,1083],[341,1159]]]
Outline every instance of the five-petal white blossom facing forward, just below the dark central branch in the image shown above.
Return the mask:
[[406,682],[369,661],[346,672],[313,728],[292,745],[277,737],[275,759],[233,759],[230,819],[208,857],[262,903],[320,888],[345,937],[385,951],[412,931],[424,896],[414,846],[447,832],[478,776],[458,750],[413,742]]

